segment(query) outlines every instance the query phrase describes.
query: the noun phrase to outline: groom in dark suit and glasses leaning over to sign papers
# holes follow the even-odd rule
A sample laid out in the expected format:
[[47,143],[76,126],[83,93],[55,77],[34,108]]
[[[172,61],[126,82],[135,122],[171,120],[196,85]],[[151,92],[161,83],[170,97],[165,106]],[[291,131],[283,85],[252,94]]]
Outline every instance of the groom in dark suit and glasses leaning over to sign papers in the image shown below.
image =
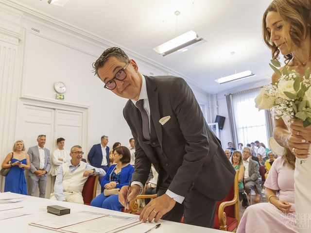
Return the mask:
[[[129,99],[123,115],[136,152],[128,200],[141,193],[151,164],[159,174],[158,197],[140,219],[180,221],[184,215],[185,223],[213,227],[216,200],[227,195],[235,170],[190,87],[173,76],[142,76],[136,62],[116,47],[105,50],[93,67],[105,88]],[[123,205],[127,190],[123,186],[119,193]]]

